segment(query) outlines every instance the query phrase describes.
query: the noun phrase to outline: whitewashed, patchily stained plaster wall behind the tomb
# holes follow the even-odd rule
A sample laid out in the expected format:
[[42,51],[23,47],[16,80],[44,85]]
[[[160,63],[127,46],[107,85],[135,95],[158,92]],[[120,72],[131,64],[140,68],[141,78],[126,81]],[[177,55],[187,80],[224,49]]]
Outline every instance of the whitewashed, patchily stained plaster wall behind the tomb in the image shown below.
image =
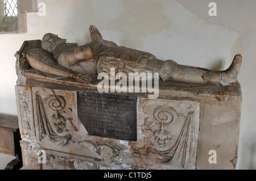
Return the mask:
[[[94,24],[106,40],[151,52],[162,60],[208,69],[228,68],[243,55],[238,80],[243,104],[237,169],[256,169],[256,1],[254,0],[39,0],[46,16],[27,14],[28,32],[0,35],[0,113],[16,115],[15,57],[24,40],[52,32],[80,45]],[[217,16],[208,14],[216,2]],[[250,79],[252,77],[252,79]]]

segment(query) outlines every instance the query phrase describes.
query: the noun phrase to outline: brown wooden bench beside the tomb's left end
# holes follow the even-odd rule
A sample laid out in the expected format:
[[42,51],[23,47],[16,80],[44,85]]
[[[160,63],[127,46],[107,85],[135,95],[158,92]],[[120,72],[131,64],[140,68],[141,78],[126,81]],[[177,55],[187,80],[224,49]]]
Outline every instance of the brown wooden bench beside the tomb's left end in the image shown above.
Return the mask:
[[0,114],[0,153],[16,157],[5,170],[19,170],[23,166],[20,140],[18,116]]

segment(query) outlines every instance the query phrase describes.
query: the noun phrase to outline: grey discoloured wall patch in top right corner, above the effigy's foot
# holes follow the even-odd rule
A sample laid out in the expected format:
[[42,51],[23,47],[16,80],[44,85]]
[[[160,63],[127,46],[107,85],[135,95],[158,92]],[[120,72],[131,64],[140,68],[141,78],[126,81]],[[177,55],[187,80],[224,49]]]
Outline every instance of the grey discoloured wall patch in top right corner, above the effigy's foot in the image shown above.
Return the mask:
[[[230,56],[241,52],[241,41],[247,33],[256,29],[256,11],[254,7],[256,2],[248,0],[215,0],[217,5],[217,16],[209,16],[208,7],[211,0],[175,0],[180,3],[185,9],[192,12],[195,16],[204,20],[207,24],[216,24],[224,28],[228,28],[229,32],[234,31],[240,33],[234,41]],[[250,6],[247,6],[249,5]],[[250,12],[250,13],[249,13]]]

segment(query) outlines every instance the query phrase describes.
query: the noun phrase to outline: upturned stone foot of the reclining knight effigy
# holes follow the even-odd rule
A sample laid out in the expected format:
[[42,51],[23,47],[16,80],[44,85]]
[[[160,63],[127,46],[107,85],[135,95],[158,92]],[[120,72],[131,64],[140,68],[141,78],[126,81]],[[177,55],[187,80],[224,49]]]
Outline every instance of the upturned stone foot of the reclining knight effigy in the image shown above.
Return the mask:
[[241,56],[241,54],[237,54],[234,57],[234,60],[233,60],[232,64],[230,65],[230,67],[226,71],[221,73],[220,84],[222,86],[236,85],[237,76],[240,71],[241,64],[242,64],[242,56]]

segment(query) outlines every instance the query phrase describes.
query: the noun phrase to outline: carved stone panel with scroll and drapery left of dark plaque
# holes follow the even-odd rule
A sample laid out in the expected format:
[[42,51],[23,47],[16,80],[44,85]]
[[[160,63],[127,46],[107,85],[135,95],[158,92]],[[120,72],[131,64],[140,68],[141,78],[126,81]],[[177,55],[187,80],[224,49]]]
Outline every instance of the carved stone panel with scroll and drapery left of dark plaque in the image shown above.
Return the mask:
[[32,87],[36,140],[44,136],[64,146],[79,131],[76,91]]

